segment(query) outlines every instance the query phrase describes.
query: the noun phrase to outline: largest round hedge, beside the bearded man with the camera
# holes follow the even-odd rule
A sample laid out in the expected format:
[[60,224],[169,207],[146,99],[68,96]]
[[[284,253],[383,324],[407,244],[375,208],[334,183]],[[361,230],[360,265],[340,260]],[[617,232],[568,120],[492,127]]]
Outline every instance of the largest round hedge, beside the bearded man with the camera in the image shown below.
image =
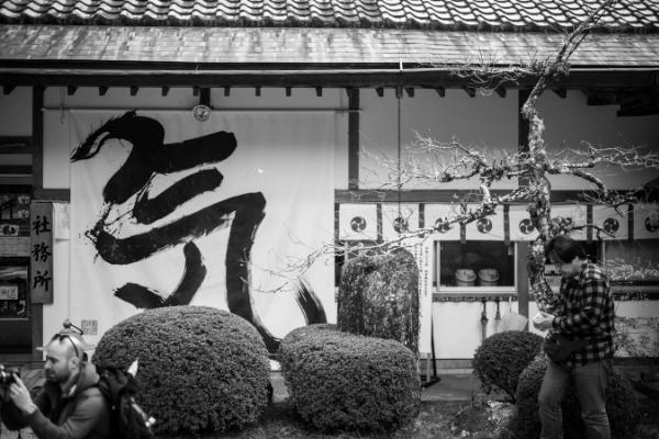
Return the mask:
[[257,420],[268,405],[268,351],[243,318],[211,307],[145,311],[109,329],[96,364],[139,359],[137,402],[163,434],[225,431]]

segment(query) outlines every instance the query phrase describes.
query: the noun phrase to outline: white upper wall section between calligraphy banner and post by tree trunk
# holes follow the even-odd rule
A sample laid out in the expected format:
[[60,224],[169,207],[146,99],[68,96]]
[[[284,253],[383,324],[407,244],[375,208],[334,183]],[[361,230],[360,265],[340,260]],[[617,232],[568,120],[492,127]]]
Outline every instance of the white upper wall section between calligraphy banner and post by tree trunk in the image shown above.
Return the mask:
[[[362,109],[359,121],[359,179],[364,188],[378,188],[392,182],[381,168],[382,157],[395,159],[398,155],[398,101],[391,89],[382,98],[375,90],[360,92]],[[498,94],[469,98],[461,90],[446,90],[444,98],[434,90],[417,89],[414,97],[404,93],[401,99],[401,149],[410,153],[416,134],[429,135],[438,142],[457,139],[466,146],[488,151],[514,153],[517,146],[517,93],[505,98]],[[418,156],[415,156],[418,157]],[[453,159],[453,154],[446,157]],[[409,184],[404,189],[415,189]],[[456,181],[426,184],[424,189],[478,188],[478,180],[468,184]],[[494,188],[514,188],[516,180],[502,181]]]

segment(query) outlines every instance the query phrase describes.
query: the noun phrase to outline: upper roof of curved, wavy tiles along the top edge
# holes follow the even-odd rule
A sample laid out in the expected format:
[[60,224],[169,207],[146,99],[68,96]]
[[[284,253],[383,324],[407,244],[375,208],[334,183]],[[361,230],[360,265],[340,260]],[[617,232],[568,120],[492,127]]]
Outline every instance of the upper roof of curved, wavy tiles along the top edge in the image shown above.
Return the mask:
[[[340,26],[539,31],[572,27],[600,0],[0,0],[4,23]],[[659,32],[659,0],[621,0],[613,31]]]

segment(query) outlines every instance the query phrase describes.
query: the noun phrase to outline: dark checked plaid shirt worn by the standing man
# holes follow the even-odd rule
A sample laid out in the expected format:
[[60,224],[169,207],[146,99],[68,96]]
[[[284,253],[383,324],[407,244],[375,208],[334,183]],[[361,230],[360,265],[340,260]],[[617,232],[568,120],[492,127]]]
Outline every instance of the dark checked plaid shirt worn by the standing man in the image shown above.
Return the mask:
[[573,352],[567,365],[583,365],[613,357],[614,305],[608,278],[594,263],[581,266],[581,272],[563,277],[558,313],[552,330],[590,342]]

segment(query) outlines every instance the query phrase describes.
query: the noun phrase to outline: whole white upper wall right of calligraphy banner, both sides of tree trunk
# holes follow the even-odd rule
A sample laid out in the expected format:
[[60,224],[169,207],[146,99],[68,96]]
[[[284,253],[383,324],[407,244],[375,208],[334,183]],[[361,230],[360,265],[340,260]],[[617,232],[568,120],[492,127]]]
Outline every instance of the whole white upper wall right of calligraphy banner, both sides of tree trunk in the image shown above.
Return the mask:
[[[438,142],[454,137],[467,146],[485,150],[514,153],[517,149],[517,97],[510,90],[505,98],[498,94],[468,98],[461,90],[446,90],[440,98],[434,90],[415,90],[415,97],[406,93],[401,100],[401,146],[403,156],[415,140],[415,132],[429,134]],[[398,102],[394,91],[387,89],[379,98],[375,90],[361,90],[362,108],[360,140],[360,183],[364,188],[379,188],[392,182],[381,169],[383,157],[396,158]],[[617,105],[594,106],[587,104],[581,91],[569,91],[566,99],[547,91],[540,98],[538,110],[545,121],[545,140],[550,154],[567,158],[566,148],[579,148],[581,142],[593,146],[636,146],[646,151],[659,151],[659,115],[618,117]],[[561,153],[563,151],[563,153]],[[652,178],[659,170],[622,171],[618,168],[597,166],[593,172],[612,189],[636,188]],[[551,176],[554,189],[587,189],[581,179]],[[515,187],[516,181],[502,181],[495,188]],[[410,183],[405,189],[420,185]],[[424,189],[473,189],[478,180],[429,184]]]

